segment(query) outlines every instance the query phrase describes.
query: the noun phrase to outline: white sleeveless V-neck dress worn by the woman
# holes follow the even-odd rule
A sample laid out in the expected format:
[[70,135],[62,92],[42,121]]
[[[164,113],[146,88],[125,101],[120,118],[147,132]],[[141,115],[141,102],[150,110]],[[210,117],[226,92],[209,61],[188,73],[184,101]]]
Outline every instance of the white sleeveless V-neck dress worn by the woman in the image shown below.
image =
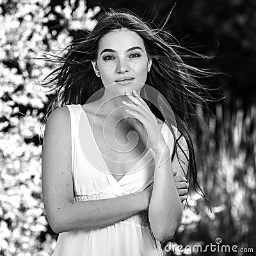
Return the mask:
[[[148,171],[148,168],[144,167],[140,171],[131,172],[135,166],[138,167],[138,164],[144,163],[145,165],[144,161],[150,157],[148,154],[150,151],[117,181],[108,172],[108,166],[100,153],[88,117],[81,104],[66,106],[70,111],[71,118],[74,202],[128,195],[142,191],[154,181],[154,167],[149,168],[152,171]],[[84,132],[81,132],[81,125],[83,125]],[[171,132],[165,122],[161,132],[164,140],[168,141]],[[88,148],[81,146],[81,140],[86,140]],[[90,159],[93,156],[97,162]],[[93,163],[100,164],[102,170],[106,170],[106,172],[101,172]],[[154,161],[150,161],[148,164],[154,164]],[[52,256],[120,255],[163,255],[160,242],[152,234],[148,211],[142,211],[107,227],[60,233]]]

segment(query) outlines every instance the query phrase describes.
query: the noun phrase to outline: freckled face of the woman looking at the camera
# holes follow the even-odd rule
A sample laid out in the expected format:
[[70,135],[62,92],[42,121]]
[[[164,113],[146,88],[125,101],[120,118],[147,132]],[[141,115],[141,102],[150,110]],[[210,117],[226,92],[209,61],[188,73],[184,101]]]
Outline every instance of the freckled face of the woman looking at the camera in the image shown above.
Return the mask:
[[97,63],[92,63],[106,90],[118,95],[123,95],[125,90],[140,90],[151,66],[142,38],[127,29],[115,29],[103,36],[99,42]]

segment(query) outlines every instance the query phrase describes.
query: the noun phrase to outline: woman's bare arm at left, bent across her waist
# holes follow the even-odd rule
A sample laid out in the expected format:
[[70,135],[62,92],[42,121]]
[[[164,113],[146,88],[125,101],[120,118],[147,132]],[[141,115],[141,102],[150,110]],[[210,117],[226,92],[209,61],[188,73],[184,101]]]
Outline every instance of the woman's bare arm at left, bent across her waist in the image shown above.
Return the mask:
[[47,220],[56,233],[105,227],[129,218],[148,209],[151,194],[141,191],[74,202],[67,107],[55,109],[47,120],[42,149],[42,192]]

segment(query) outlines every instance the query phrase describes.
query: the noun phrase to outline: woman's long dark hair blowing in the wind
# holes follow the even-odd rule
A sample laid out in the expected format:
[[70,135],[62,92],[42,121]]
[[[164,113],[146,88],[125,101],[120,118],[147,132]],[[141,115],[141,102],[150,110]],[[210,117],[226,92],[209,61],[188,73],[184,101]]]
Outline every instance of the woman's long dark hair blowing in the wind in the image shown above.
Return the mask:
[[[54,83],[54,89],[52,90],[56,90],[56,94],[47,104],[42,122],[45,124],[54,109],[67,104],[85,104],[94,93],[100,88],[104,88],[100,77],[95,76],[91,61],[97,60],[100,38],[113,31],[113,29],[122,28],[129,29],[140,35],[148,56],[152,58],[152,66],[145,84],[160,92],[172,108],[179,131],[179,137],[175,141],[172,161],[175,154],[179,159],[179,147],[179,150],[181,150],[189,163],[186,175],[189,187],[191,179],[193,179],[193,187],[198,193],[196,186],[200,191],[202,189],[197,182],[195,152],[189,135],[189,112],[193,109],[195,110],[194,106],[198,102],[210,100],[206,86],[202,86],[196,78],[212,76],[216,72],[193,67],[188,63],[184,63],[184,59],[209,59],[212,57],[198,54],[180,46],[179,42],[168,31],[164,31],[163,28],[152,28],[150,23],[129,10],[124,8],[104,10],[99,15],[97,24],[92,31],[84,31],[83,38],[76,40],[65,49],[67,55],[63,58],[57,58],[63,65],[56,68],[46,77],[53,76],[45,84]],[[159,113],[159,110],[153,104],[150,104],[148,100],[145,101],[154,115],[163,120],[164,118]],[[180,146],[181,138],[186,140],[189,157]],[[202,195],[211,209],[211,204],[203,191]],[[186,200],[186,204],[187,202]]]

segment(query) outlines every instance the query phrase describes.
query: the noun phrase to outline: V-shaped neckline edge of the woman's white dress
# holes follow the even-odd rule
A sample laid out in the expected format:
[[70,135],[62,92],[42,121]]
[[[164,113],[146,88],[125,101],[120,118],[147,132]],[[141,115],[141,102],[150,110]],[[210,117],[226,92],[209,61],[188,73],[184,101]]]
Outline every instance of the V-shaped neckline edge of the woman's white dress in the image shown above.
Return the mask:
[[[117,184],[120,185],[120,183],[124,180],[124,177],[127,176],[127,174],[128,174],[129,172],[131,172],[131,170],[132,170],[137,164],[139,164],[139,163],[143,160],[143,158],[144,158],[145,156],[147,156],[147,154],[148,154],[148,152],[150,151],[150,149],[148,149],[148,151],[145,153],[145,155],[144,155],[136,164],[134,164],[134,166],[132,166],[132,168],[131,168],[127,173],[125,173],[125,174],[121,177],[121,179],[116,180],[115,177],[113,176],[113,174],[110,172],[110,170],[109,170],[109,168],[108,168],[108,164],[106,164],[106,161],[104,160],[104,157],[102,156],[102,153],[100,152],[99,146],[98,146],[98,144],[97,144],[97,142],[96,142],[96,140],[95,140],[95,136],[94,136],[94,134],[93,134],[92,127],[91,127],[90,122],[89,122],[89,118],[88,118],[86,112],[84,111],[83,106],[82,106],[81,104],[79,104],[79,106],[81,106],[81,110],[83,111],[84,115],[86,116],[86,121],[87,121],[87,124],[88,124],[88,126],[89,126],[90,133],[92,134],[93,142],[94,142],[94,144],[95,144],[95,147],[97,148],[97,151],[99,152],[100,159],[102,160],[102,163],[103,163],[104,166],[106,167],[106,170],[108,170],[108,173],[109,173],[109,176],[111,177],[111,179],[113,179]],[[163,131],[164,125],[166,125],[165,122],[163,123],[160,132]]]

